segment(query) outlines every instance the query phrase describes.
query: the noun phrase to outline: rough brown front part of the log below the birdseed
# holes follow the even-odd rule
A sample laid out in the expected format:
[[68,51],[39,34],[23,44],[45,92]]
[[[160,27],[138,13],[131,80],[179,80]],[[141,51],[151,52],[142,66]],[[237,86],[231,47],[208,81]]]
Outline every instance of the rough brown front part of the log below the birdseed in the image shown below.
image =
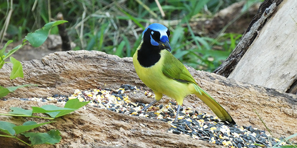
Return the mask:
[[[7,113],[9,106],[31,109],[31,106],[47,104],[20,100],[0,101],[0,113]],[[0,116],[0,120],[15,124],[27,121],[23,117],[10,116]],[[34,118],[34,121],[41,123],[48,120]],[[57,129],[62,133],[61,142],[56,145],[38,145],[37,148],[224,148],[185,135],[168,133],[167,129],[171,126],[160,120],[128,116],[89,105],[86,110],[79,109],[55,121],[34,129],[34,132]],[[19,138],[28,142],[24,136]],[[0,137],[0,148],[30,148],[20,145],[24,144],[13,138]]]

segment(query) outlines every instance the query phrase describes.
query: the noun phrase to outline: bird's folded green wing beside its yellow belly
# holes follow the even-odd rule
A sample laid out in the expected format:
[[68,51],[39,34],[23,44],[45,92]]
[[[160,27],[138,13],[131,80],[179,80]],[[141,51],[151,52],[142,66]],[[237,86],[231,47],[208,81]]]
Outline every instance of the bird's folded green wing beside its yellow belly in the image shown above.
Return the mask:
[[163,69],[162,72],[167,77],[170,77],[179,82],[190,82],[197,84],[194,80],[193,76],[186,69],[186,67],[175,58],[170,52],[165,51],[165,58],[163,61]]

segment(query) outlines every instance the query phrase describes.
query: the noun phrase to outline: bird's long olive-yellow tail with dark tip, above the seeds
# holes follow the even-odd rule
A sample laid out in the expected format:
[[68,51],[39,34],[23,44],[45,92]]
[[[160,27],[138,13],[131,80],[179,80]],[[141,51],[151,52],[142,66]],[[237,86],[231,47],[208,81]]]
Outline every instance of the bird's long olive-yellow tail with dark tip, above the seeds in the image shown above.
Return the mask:
[[198,85],[193,84],[195,88],[195,95],[201,99],[222,121],[228,121],[229,123],[236,124],[232,119],[231,115],[210,95],[208,95],[202,88]]

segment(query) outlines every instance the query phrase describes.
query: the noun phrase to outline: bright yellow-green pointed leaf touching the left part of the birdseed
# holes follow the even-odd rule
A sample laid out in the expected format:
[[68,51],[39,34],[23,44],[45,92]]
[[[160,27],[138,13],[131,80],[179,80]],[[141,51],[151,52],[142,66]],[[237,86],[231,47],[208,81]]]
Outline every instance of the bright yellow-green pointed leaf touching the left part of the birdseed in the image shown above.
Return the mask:
[[[67,108],[67,109],[73,109],[74,111],[87,105],[90,101],[87,101],[87,102],[80,102],[78,99],[71,99],[71,100],[68,100],[67,103],[65,104],[64,108]],[[62,116],[62,115],[65,115],[65,114],[68,114],[72,111],[61,111],[60,113],[58,113],[55,117],[59,117],[59,116]]]

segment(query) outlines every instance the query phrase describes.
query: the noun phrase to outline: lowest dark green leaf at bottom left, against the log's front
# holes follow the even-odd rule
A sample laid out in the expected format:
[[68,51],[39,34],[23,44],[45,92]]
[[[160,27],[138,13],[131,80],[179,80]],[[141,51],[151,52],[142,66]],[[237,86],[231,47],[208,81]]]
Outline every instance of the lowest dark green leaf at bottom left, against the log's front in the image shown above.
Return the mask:
[[59,143],[62,139],[60,136],[59,130],[50,130],[47,133],[22,133],[25,137],[30,137],[31,145],[39,145],[39,144],[50,144],[54,145]]

